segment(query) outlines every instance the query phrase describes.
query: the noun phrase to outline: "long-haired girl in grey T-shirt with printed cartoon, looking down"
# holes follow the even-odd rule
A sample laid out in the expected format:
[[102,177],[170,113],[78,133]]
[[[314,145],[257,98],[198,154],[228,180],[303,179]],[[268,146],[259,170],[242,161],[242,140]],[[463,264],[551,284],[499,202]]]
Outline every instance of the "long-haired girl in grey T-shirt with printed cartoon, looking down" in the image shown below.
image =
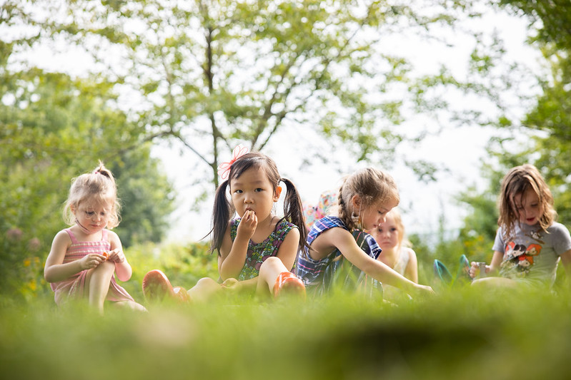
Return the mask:
[[[474,286],[552,287],[559,261],[571,274],[571,236],[556,222],[553,197],[534,165],[512,168],[502,180],[500,217],[490,265]],[[471,263],[470,277],[479,274]],[[487,277],[497,275],[499,277]]]

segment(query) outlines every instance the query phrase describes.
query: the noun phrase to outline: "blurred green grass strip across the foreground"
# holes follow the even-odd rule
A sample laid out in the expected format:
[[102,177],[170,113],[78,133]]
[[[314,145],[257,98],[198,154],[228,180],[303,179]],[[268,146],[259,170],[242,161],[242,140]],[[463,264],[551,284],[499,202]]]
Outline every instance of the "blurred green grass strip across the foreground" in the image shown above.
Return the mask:
[[2,379],[568,379],[568,294],[220,299],[148,313],[1,301]]

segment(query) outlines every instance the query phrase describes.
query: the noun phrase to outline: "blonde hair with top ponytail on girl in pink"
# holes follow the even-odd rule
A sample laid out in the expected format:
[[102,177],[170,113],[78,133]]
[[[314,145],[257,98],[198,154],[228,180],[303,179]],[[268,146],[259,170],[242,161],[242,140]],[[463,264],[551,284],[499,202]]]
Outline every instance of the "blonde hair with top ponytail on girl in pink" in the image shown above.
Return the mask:
[[64,206],[64,221],[68,225],[75,223],[75,215],[71,212],[71,207],[75,209],[79,203],[87,199],[95,202],[110,203],[111,212],[107,221],[107,228],[111,229],[119,225],[119,199],[117,199],[117,188],[115,178],[111,170],[105,168],[99,161],[99,166],[91,173],[85,173],[74,178],[69,188],[69,195]]

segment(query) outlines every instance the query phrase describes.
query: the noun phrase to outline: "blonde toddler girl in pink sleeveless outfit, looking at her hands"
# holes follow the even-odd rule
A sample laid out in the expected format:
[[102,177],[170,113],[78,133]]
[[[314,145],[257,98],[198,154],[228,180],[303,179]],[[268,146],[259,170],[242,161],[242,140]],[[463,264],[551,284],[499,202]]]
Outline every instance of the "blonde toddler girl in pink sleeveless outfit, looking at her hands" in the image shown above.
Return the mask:
[[113,175],[101,162],[71,184],[64,220],[71,227],[54,237],[44,267],[56,304],[87,299],[101,314],[105,302],[144,311],[115,280],[114,274],[129,280],[132,269],[121,240],[108,230],[119,225],[119,201]]

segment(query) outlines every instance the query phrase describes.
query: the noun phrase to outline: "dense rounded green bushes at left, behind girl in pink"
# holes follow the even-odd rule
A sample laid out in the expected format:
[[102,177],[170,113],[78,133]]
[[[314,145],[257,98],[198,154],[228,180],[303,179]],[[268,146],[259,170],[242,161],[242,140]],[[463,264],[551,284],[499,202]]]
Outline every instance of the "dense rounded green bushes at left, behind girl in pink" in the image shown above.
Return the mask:
[[33,292],[51,240],[64,227],[71,178],[93,170],[98,160],[114,172],[126,245],[161,240],[173,195],[149,156],[150,143],[116,107],[114,83],[14,69],[12,53],[29,41],[0,41],[0,289],[15,284]]

